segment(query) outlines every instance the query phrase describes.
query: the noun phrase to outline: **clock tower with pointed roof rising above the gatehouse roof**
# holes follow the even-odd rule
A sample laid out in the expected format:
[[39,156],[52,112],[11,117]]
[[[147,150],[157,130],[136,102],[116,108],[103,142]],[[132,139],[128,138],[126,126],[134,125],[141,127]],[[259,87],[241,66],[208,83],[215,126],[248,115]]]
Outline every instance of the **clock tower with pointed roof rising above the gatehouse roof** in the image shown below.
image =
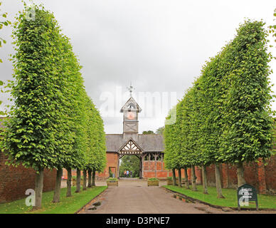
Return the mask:
[[124,137],[136,138],[138,134],[138,113],[142,109],[132,96],[127,100],[127,103],[121,108],[120,112],[124,113],[123,135]]

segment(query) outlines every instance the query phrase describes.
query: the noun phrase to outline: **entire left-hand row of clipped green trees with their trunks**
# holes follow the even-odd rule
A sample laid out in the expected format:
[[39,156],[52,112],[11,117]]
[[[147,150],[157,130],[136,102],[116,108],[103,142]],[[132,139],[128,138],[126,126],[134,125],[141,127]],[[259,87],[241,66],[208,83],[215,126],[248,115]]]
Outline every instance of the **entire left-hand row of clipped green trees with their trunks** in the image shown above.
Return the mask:
[[[33,14],[33,15],[28,15]],[[95,184],[95,172],[106,165],[105,132],[99,111],[88,97],[77,56],[50,11],[33,6],[16,16],[14,81],[7,87],[14,105],[5,118],[1,150],[9,165],[36,170],[35,206],[41,208],[43,170],[56,169],[53,202],[60,200],[63,168],[77,169],[76,192]],[[91,177],[92,176],[92,177]],[[91,183],[92,182],[92,183]]]

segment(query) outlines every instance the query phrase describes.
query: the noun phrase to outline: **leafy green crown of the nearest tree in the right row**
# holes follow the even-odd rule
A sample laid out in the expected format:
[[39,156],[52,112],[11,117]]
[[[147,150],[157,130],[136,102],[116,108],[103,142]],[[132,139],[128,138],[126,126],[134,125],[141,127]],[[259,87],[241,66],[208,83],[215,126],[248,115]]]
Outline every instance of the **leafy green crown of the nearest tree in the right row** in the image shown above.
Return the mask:
[[222,66],[231,63],[223,78],[226,93],[218,156],[225,162],[253,161],[271,155],[271,55],[267,53],[267,31],[263,26],[262,21],[245,21],[221,58]]

